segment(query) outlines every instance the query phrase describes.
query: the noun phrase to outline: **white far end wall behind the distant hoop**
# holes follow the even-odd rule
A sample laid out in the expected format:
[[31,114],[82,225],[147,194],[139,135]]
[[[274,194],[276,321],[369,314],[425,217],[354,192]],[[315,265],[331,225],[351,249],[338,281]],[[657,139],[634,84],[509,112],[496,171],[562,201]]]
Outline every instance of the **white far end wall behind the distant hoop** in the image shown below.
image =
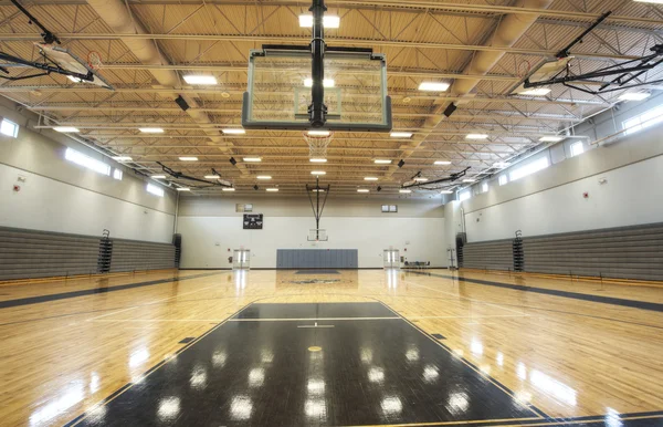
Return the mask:
[[[238,202],[252,202],[253,212],[265,216],[262,230],[242,229]],[[399,205],[399,214],[380,214],[382,204]],[[252,268],[275,268],[277,249],[358,249],[359,268],[381,268],[390,246],[410,261],[446,265],[440,200],[330,199],[320,223],[329,241],[317,243],[306,240],[315,228],[306,198],[186,197],[179,212],[182,268],[230,268],[228,257],[242,246],[251,249]]]

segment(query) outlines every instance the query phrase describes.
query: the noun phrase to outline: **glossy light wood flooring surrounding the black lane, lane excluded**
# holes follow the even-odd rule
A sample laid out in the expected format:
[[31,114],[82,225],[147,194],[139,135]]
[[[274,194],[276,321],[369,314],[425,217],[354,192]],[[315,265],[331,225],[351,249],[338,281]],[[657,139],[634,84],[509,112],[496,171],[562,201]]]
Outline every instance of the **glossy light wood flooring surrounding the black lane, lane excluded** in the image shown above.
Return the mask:
[[385,303],[551,418],[617,426],[663,410],[663,289],[428,273],[180,271],[0,287],[0,425],[66,424],[253,302]]

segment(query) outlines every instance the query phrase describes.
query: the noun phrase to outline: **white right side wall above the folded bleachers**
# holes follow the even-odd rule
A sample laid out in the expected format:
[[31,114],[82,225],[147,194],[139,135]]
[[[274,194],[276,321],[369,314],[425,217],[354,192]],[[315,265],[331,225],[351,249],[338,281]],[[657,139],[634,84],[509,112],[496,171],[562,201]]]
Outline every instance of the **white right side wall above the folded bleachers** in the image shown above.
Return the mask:
[[661,131],[642,131],[462,202],[469,241],[663,221]]

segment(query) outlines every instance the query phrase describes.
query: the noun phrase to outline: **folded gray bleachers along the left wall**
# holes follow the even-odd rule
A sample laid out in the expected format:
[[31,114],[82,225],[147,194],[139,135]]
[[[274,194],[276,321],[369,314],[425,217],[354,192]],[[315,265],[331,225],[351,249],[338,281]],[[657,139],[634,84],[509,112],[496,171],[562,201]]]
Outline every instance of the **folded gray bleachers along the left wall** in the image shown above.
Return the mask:
[[[175,268],[175,247],[113,240],[110,271]],[[101,237],[0,227],[0,280],[94,274]]]

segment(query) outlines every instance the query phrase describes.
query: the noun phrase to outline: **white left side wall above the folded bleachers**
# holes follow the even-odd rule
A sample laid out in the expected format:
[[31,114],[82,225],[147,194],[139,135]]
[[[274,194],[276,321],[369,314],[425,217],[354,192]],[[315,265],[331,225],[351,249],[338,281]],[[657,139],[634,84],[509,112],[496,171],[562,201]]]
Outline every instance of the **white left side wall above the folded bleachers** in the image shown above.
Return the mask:
[[[103,229],[124,239],[170,242],[176,197],[156,197],[143,178],[124,170],[116,180],[64,159],[65,138],[38,133],[29,118],[0,104],[0,116],[21,124],[18,138],[0,135],[0,226],[101,236]],[[53,134],[53,135],[51,135]],[[65,143],[113,167],[112,159],[73,140]],[[22,180],[20,180],[22,179]],[[20,186],[14,191],[13,186]]]

